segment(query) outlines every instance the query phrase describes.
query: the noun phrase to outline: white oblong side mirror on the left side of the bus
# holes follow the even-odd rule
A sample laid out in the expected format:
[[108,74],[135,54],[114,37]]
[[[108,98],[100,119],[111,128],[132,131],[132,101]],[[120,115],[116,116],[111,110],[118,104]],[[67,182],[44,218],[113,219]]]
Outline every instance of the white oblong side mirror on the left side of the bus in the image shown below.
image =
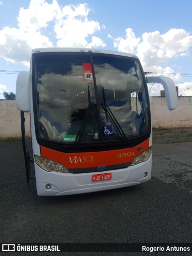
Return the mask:
[[16,82],[16,105],[23,112],[30,111],[31,73],[21,71]]

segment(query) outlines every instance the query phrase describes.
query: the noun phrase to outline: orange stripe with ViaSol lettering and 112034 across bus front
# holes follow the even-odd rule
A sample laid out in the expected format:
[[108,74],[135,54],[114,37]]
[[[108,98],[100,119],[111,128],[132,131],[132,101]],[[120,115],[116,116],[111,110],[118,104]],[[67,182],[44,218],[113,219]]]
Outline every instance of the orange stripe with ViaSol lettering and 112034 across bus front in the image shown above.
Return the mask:
[[[142,146],[141,151],[138,151],[138,146]],[[123,148],[98,152],[64,153],[40,146],[42,157],[63,164],[66,166],[66,168],[88,168],[132,162],[136,156],[148,148],[149,139],[133,148]]]

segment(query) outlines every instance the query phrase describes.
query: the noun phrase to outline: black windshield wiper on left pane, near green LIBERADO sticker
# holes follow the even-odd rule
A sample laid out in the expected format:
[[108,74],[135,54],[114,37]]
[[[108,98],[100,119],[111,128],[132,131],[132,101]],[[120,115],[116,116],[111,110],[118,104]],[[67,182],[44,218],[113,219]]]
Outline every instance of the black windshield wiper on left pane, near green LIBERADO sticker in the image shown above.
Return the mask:
[[77,136],[76,136],[76,139],[75,139],[75,141],[74,141],[74,144],[73,144],[74,147],[75,147],[76,145],[78,145],[78,143],[80,142],[80,139],[81,139],[81,137],[82,137],[84,128],[85,128],[86,123],[87,123],[87,121],[88,121],[88,119],[89,119],[89,116],[90,116],[90,114],[91,114],[92,107],[93,107],[93,106],[96,106],[96,104],[94,104],[94,102],[91,102],[91,100],[90,100],[90,90],[89,90],[89,86],[88,86],[88,102],[89,102],[89,104],[88,104],[88,107],[86,108],[86,113],[85,113],[85,116],[84,116],[84,118],[83,118],[82,125],[81,125],[81,127],[80,127],[80,129],[79,129],[79,132],[78,132],[78,134],[77,134]]

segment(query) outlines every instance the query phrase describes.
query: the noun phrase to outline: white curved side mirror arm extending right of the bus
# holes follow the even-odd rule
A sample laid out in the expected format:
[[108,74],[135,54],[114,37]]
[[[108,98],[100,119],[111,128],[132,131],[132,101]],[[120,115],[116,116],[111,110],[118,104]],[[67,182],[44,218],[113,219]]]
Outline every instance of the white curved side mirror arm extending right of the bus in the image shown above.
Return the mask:
[[178,104],[177,91],[172,79],[166,76],[147,76],[147,83],[162,84],[169,110],[174,110]]

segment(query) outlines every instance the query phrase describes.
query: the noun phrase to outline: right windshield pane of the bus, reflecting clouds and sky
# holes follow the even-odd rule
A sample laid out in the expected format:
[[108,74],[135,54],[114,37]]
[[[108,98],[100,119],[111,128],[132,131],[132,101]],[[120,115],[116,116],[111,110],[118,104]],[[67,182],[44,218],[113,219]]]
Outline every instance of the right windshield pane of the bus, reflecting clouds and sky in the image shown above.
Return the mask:
[[[144,113],[147,120],[149,114],[146,88],[138,62],[113,56],[94,56],[93,60],[98,90],[100,88],[100,115],[114,131],[113,135],[115,132],[119,134],[116,124],[128,139],[147,132],[150,129],[149,122],[145,123],[145,129],[141,129]],[[107,118],[106,110],[102,108],[104,98],[114,116],[111,119]],[[114,137],[108,136],[107,139],[113,140]]]

